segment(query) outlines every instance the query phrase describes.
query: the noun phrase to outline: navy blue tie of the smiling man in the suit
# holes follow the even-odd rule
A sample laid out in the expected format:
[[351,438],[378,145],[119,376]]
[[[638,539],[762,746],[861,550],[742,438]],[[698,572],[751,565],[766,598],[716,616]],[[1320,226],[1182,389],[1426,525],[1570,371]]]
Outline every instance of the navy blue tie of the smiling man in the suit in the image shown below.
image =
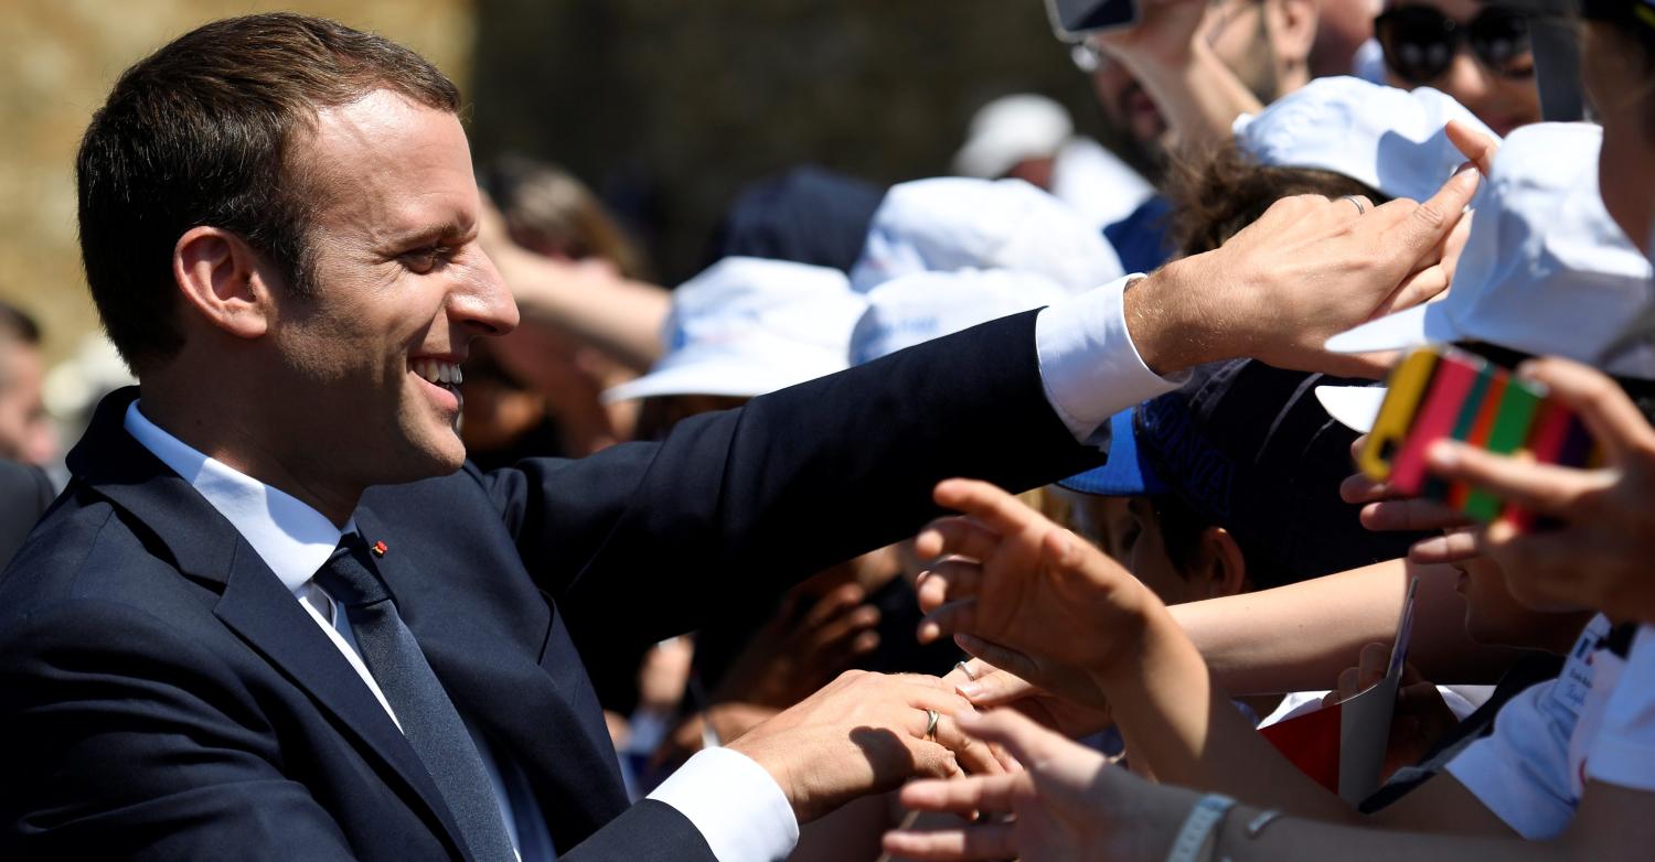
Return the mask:
[[483,758],[425,662],[414,634],[402,624],[391,589],[374,569],[362,536],[346,533],[328,564],[316,572],[316,582],[344,606],[362,663],[397,713],[402,735],[442,791],[472,857],[513,862],[516,854],[511,852],[511,837],[500,817]]

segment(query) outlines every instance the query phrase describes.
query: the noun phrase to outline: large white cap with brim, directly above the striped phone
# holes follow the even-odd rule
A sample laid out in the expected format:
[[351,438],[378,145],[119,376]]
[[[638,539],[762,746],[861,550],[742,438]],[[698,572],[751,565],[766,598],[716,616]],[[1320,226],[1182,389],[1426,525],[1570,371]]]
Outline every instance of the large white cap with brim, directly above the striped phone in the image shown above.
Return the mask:
[[[1446,298],[1327,339],[1336,352],[1483,341],[1529,354],[1592,362],[1620,377],[1655,379],[1655,347],[1604,351],[1650,299],[1650,261],[1609,217],[1597,194],[1604,131],[1539,122],[1506,139],[1483,180],[1471,237]],[[1379,395],[1375,395],[1379,392]],[[1372,427],[1377,387],[1319,387],[1327,412]]]

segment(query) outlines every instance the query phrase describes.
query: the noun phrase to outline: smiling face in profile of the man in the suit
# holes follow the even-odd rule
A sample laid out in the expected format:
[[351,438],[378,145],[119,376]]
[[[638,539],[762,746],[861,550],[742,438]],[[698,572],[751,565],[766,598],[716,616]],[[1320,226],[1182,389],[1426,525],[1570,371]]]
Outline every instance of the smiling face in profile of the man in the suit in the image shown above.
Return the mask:
[[290,405],[288,472],[341,490],[457,470],[458,366],[516,306],[477,245],[458,119],[387,91],[318,114],[290,164],[314,202],[313,296],[278,291],[271,326]]

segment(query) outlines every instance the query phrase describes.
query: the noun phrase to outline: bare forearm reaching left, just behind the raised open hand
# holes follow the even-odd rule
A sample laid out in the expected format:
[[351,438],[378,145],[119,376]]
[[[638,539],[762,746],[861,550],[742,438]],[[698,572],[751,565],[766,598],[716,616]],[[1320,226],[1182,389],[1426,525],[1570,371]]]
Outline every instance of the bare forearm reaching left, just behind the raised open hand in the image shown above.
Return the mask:
[[1284,587],[1173,606],[1213,677],[1233,695],[1327,688],[1364,645],[1397,632],[1408,577],[1420,577],[1408,660],[1435,682],[1493,682],[1516,650],[1475,644],[1465,630],[1458,572],[1379,563]]

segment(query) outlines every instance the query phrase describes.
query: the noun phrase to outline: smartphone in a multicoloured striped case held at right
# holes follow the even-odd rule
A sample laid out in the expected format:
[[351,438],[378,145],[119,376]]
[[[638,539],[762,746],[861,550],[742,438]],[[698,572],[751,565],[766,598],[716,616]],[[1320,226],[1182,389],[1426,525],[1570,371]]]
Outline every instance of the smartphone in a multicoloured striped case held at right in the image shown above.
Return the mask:
[[1547,397],[1544,387],[1481,356],[1432,344],[1412,351],[1390,372],[1357,465],[1375,481],[1442,500],[1476,521],[1506,516],[1521,528],[1534,524],[1528,513],[1493,495],[1430,476],[1425,452],[1443,438],[1498,455],[1526,452],[1566,467],[1599,458],[1581,419]]

